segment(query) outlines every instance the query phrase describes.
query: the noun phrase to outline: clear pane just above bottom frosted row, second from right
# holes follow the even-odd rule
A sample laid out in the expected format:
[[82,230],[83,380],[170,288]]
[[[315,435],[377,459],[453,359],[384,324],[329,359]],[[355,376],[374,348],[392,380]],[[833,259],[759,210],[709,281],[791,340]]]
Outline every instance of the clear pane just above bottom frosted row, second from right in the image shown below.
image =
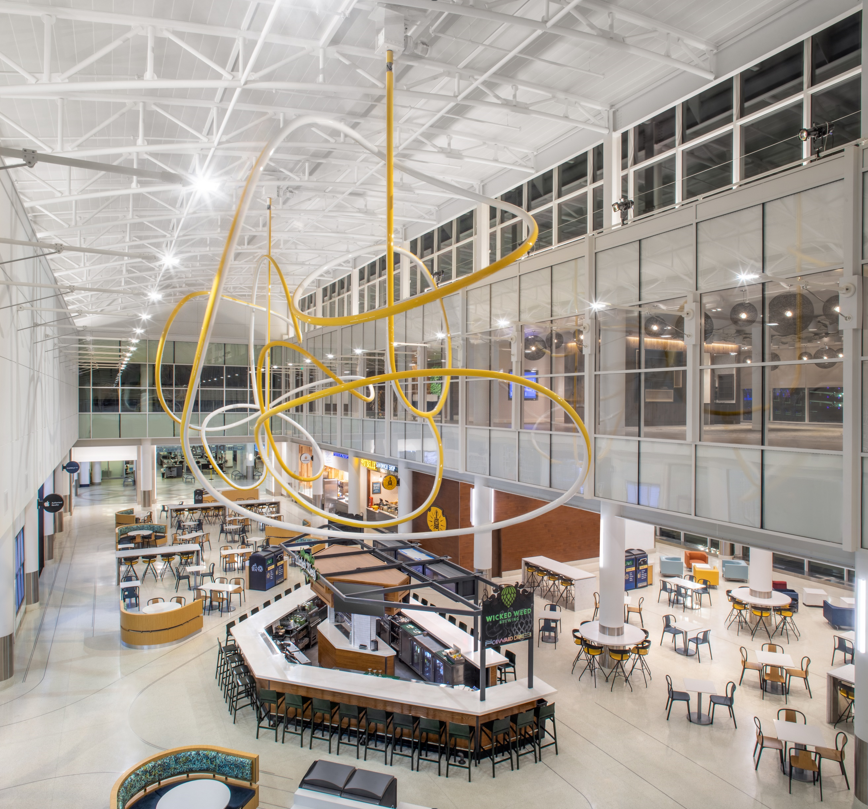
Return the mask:
[[762,366],[709,369],[701,374],[702,440],[761,444]]

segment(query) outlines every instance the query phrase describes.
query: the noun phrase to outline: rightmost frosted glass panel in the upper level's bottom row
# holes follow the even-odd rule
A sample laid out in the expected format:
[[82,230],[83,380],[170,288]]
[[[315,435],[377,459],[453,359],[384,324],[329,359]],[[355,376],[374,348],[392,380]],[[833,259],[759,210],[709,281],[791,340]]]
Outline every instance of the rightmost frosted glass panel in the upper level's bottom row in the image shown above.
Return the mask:
[[769,531],[840,545],[842,491],[840,455],[763,452],[763,528]]

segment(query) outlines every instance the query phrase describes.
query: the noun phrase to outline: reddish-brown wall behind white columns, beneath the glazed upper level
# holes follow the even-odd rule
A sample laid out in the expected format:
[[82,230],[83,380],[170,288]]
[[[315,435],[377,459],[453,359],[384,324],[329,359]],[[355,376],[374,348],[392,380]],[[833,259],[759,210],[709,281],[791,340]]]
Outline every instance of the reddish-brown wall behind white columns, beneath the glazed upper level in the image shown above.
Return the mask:
[[[432,475],[413,473],[413,508],[425,502],[434,483]],[[434,505],[446,516],[447,527],[470,527],[470,492],[473,486],[444,478]],[[508,520],[539,508],[542,500],[517,494],[494,493],[495,521]],[[413,521],[414,531],[427,531],[424,517]],[[473,570],[473,536],[425,539],[422,547]],[[600,515],[571,506],[561,506],[542,517],[494,533],[493,573],[518,570],[526,556],[548,556],[559,562],[592,559],[600,552]]]

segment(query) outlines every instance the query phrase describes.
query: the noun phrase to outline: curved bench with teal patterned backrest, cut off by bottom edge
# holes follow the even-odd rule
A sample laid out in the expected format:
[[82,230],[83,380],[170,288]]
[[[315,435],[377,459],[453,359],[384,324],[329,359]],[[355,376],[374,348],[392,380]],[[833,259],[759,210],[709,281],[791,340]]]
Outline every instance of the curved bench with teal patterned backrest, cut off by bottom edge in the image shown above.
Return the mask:
[[[231,809],[259,806],[259,756],[225,747],[174,747],[130,767],[112,787],[110,809],[152,809],[159,799],[191,775],[209,775],[232,792]],[[156,787],[156,789],[152,789]]]

